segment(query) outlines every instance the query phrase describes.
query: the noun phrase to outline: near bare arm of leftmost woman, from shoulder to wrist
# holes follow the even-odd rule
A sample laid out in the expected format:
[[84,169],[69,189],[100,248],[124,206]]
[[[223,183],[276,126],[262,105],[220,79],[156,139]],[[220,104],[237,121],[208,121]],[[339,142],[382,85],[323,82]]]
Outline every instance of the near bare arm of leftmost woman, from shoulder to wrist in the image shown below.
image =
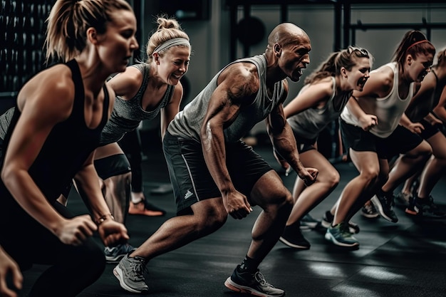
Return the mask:
[[51,207],[28,170],[53,127],[71,114],[73,100],[73,80],[66,66],[55,66],[30,80],[18,96],[21,116],[11,135],[1,171],[1,178],[14,199],[54,234],[61,231],[66,219]]

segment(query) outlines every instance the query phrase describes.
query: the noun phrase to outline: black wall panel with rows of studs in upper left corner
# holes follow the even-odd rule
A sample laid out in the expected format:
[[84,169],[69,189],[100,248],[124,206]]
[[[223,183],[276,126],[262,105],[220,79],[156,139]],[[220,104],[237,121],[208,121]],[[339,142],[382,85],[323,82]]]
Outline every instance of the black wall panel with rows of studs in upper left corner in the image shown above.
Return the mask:
[[14,104],[16,92],[44,66],[43,42],[54,1],[1,0],[0,113]]

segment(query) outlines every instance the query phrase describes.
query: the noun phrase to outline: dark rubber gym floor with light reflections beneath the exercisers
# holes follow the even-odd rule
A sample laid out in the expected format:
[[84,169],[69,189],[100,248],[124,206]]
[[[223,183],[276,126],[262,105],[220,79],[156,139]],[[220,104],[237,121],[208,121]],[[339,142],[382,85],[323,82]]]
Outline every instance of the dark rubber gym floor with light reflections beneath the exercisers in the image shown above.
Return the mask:
[[[279,170],[271,147],[258,145],[260,153],[274,169]],[[127,228],[130,244],[138,246],[156,231],[166,219],[175,215],[175,203],[169,189],[169,177],[164,157],[159,146],[145,151],[143,161],[147,199],[167,210],[164,217],[128,217]],[[341,193],[343,186],[356,176],[351,163],[338,163],[341,183],[333,193],[313,209],[311,215],[321,219]],[[296,173],[285,177],[284,183],[292,189]],[[166,192],[157,192],[165,189]],[[432,192],[435,202],[446,208],[446,184],[442,178]],[[76,192],[71,192],[68,208],[74,213],[85,214],[86,209]],[[259,267],[266,281],[286,291],[289,297],[316,296],[446,296],[446,219],[415,222],[396,204],[399,222],[385,219],[365,219],[361,214],[353,217],[361,227],[356,234],[360,248],[346,251],[329,244],[320,231],[304,231],[311,242],[311,249],[297,251],[278,242]],[[146,281],[150,288],[148,296],[156,297],[242,297],[224,286],[235,266],[245,256],[250,231],[259,207],[242,220],[229,218],[222,229],[203,239],[188,244],[170,253],[152,259],[147,265]],[[51,246],[48,246],[51,249]],[[120,288],[113,268],[108,264],[103,276],[80,296],[135,296]],[[33,281],[46,269],[34,266],[24,273],[26,296]],[[88,267],[85,267],[88,269]],[[63,296],[61,296],[63,297]]]

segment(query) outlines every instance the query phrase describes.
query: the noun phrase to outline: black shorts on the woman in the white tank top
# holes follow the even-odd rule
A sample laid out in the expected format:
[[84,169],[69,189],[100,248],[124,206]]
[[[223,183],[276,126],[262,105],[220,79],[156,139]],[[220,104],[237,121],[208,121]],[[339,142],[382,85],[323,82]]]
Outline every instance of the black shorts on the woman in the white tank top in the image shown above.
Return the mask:
[[417,135],[405,127],[398,125],[388,137],[381,138],[364,131],[361,127],[350,125],[340,120],[341,136],[344,147],[356,152],[376,152],[380,159],[391,159],[395,155],[404,154],[423,141]]

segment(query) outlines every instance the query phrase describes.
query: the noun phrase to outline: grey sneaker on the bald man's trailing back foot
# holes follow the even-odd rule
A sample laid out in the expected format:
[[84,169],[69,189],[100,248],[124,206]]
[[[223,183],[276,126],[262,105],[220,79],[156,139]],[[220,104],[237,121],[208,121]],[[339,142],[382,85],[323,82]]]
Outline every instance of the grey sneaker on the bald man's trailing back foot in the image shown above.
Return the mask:
[[118,278],[121,288],[132,293],[149,291],[144,278],[145,264],[145,259],[140,256],[125,255],[113,269],[113,274]]

